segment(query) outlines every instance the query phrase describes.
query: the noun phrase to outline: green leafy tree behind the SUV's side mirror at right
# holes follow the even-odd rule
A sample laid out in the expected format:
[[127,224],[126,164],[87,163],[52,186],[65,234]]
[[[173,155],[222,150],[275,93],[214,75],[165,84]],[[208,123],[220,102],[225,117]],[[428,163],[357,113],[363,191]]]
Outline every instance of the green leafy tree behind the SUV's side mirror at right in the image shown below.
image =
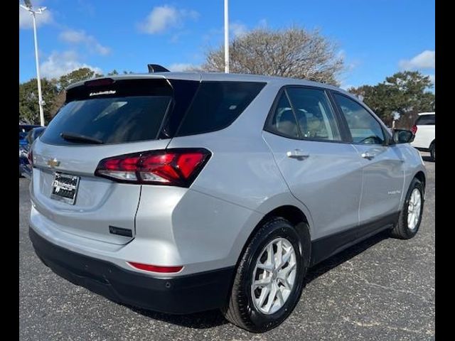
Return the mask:
[[362,99],[388,126],[397,115],[400,117],[397,126],[410,128],[419,112],[434,111],[434,94],[429,91],[432,87],[429,76],[404,71],[386,77],[378,85],[363,85],[348,91]]

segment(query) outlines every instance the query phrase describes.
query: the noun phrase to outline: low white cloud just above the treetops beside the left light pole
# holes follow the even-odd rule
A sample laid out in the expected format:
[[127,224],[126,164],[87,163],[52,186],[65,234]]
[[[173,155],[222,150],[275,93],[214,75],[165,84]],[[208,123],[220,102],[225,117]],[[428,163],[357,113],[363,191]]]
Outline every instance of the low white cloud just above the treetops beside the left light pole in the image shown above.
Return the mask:
[[63,53],[53,52],[44,63],[41,63],[41,75],[47,78],[57,78],[68,72],[88,67],[91,70],[102,73],[100,67],[93,67],[78,60],[78,55],[74,51],[65,51]]

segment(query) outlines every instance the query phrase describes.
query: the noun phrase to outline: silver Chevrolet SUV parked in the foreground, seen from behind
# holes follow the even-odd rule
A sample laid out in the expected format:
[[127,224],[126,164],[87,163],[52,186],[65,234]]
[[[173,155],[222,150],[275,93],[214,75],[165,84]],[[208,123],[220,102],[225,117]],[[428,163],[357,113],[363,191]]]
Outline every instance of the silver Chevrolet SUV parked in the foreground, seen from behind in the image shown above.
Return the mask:
[[79,82],[32,147],[30,238],[55,273],[113,301],[220,308],[262,332],[294,309],[309,267],[384,229],[417,233],[411,140],[306,80]]

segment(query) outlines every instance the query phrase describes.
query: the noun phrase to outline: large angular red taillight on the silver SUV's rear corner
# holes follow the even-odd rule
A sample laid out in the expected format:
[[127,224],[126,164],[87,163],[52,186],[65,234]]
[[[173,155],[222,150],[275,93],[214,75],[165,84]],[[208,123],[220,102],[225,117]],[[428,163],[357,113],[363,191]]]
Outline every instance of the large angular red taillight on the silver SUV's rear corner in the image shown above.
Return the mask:
[[121,183],[189,187],[210,155],[203,148],[184,148],[114,156],[100,161],[95,175]]

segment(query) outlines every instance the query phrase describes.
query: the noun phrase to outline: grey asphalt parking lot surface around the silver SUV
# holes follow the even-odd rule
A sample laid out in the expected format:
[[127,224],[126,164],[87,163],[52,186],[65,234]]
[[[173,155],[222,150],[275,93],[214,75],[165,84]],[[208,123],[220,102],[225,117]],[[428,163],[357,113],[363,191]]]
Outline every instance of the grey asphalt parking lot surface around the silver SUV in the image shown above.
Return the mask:
[[435,175],[424,161],[417,236],[381,233],[314,267],[294,312],[263,334],[216,310],[165,315],[119,305],[53,274],[28,239],[29,182],[19,178],[20,340],[434,340]]

